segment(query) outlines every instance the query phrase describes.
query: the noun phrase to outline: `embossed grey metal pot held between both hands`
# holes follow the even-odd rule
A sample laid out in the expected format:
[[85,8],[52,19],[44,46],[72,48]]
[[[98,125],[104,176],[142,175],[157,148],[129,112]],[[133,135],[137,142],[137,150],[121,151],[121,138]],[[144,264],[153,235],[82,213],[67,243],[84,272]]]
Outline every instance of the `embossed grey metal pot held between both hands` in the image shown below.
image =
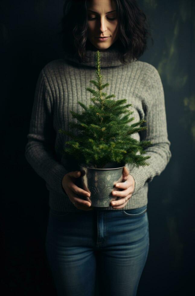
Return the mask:
[[[121,189],[114,188],[114,184],[122,182],[124,165],[117,164],[116,167],[116,164],[110,162],[102,169],[79,165],[81,171],[79,186],[91,193],[88,200],[91,201],[92,207],[109,207],[111,201],[118,199],[112,195],[112,191],[121,191]],[[84,198],[84,196],[80,197]]]

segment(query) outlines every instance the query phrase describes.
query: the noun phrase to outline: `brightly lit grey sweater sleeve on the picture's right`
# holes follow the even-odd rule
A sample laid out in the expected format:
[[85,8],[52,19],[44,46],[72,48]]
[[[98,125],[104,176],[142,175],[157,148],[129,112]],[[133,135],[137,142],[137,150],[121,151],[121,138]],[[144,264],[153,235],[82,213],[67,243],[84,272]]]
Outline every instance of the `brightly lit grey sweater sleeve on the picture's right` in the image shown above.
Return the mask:
[[[156,175],[160,175],[161,172],[167,166],[170,158],[171,151],[170,141],[168,140],[167,122],[165,113],[165,97],[164,90],[159,73],[155,67],[152,67],[153,71],[149,76],[146,84],[145,91],[145,125],[147,130],[140,132],[140,140],[152,141],[152,146],[145,149],[145,154],[142,156],[151,156],[146,162],[149,162],[149,166],[140,166],[133,169],[129,169],[129,174],[133,176],[135,180],[136,193],[144,186],[145,182],[151,182]],[[142,125],[143,126],[143,125]]]

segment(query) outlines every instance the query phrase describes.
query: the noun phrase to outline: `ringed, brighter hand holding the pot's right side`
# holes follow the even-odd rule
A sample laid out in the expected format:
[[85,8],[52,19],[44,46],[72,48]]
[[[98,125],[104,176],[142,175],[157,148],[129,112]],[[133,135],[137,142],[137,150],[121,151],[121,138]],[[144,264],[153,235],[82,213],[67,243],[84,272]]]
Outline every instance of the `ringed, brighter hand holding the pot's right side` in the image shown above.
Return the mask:
[[[125,166],[123,167],[122,183],[116,183],[115,187],[120,188],[120,189],[124,189],[124,190],[123,191],[114,191],[114,190],[112,191],[112,195],[119,196],[120,199],[117,201],[112,201],[111,206],[113,206],[113,209],[122,209],[128,203],[128,201],[131,198],[133,191],[135,189],[135,180],[133,179],[132,175],[129,175],[129,171]],[[114,195],[114,192],[116,192],[115,195]],[[125,198],[128,198],[128,201],[126,201]],[[115,205],[113,203],[115,203]]]

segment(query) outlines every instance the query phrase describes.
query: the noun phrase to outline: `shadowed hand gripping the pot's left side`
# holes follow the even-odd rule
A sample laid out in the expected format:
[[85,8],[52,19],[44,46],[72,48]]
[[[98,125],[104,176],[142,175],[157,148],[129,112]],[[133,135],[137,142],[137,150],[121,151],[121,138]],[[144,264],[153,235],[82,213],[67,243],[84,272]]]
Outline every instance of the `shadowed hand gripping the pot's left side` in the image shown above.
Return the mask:
[[[79,178],[80,176],[81,176],[80,171],[72,171],[67,173],[66,175],[64,175],[62,179],[62,187],[66,191],[66,194],[68,195],[69,200],[72,203],[75,202],[75,207],[77,209],[90,211],[90,210],[93,210],[93,207],[91,207],[91,201],[89,200],[90,193],[85,191],[82,188],[79,188],[74,183],[75,178]],[[79,198],[78,194],[85,196],[87,198],[87,201],[82,198]]]

